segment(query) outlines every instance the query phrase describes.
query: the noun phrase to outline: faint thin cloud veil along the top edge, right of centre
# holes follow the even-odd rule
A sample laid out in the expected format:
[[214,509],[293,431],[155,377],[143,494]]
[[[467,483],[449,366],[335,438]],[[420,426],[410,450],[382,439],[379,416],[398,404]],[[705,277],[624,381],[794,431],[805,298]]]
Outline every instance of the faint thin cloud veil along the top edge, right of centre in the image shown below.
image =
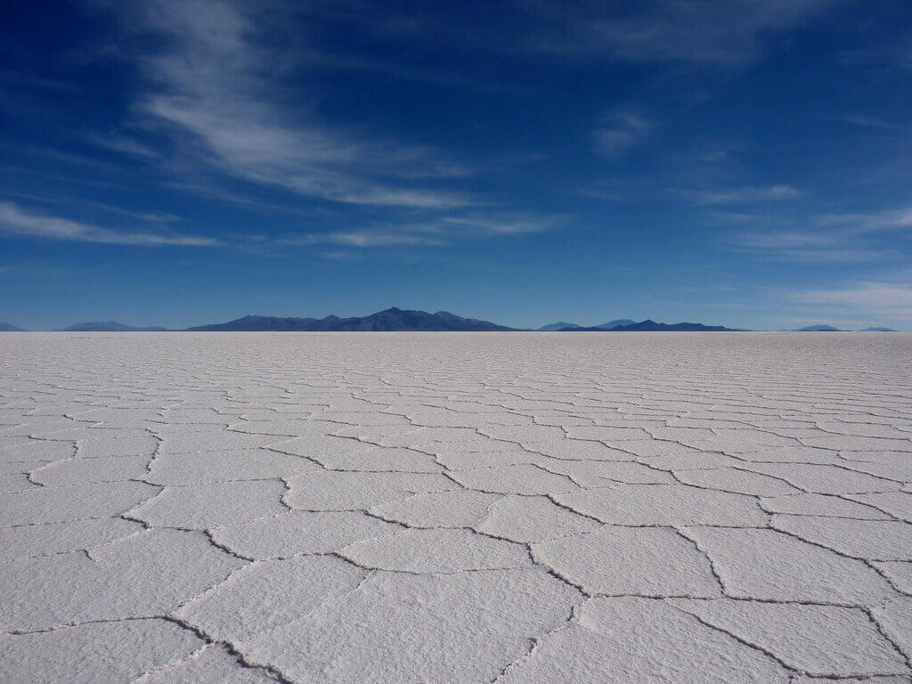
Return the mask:
[[762,57],[772,36],[837,1],[492,0],[487,22],[477,21],[475,13],[441,13],[439,7],[448,5],[433,3],[409,5],[408,14],[370,0],[337,3],[334,10],[385,38],[458,41],[463,48],[575,60],[616,57],[636,63],[741,67]]

